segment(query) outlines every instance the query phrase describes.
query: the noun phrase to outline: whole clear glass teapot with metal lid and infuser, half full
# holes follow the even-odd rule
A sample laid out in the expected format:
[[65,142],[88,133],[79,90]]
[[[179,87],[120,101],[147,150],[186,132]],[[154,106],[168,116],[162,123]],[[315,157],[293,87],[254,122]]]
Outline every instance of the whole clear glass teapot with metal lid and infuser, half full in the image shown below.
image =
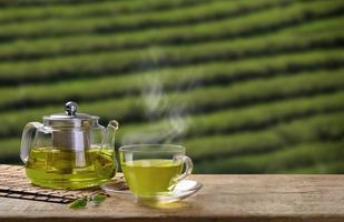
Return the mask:
[[53,189],[82,189],[110,180],[117,171],[116,120],[107,128],[99,117],[77,113],[67,102],[66,113],[29,122],[22,132],[20,158],[33,184]]

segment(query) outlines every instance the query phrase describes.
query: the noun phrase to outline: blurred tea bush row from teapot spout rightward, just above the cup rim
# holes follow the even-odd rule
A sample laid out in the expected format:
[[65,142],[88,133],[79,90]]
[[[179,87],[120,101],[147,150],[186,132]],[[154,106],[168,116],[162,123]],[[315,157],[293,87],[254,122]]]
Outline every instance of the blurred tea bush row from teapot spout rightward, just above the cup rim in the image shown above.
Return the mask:
[[[282,101],[258,103],[237,109],[224,109],[205,114],[178,117],[187,124],[187,131],[179,132],[183,139],[209,134],[226,134],[242,131],[258,131],[278,122],[287,122],[305,117],[344,111],[344,92],[333,92],[314,97],[296,97]],[[142,122],[124,125],[118,138],[138,132],[164,132],[171,128],[174,117],[158,122]],[[138,141],[140,142],[140,141]],[[154,142],[147,140],[147,142]]]

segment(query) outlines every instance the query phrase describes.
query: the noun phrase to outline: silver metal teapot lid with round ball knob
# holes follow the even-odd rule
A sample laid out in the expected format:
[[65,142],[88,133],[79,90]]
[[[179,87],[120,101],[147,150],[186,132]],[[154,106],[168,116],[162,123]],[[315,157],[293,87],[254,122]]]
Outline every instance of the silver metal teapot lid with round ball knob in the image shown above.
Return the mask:
[[77,113],[78,104],[69,101],[65,104],[66,113],[55,113],[43,117],[45,125],[49,127],[90,127],[98,122],[99,117]]

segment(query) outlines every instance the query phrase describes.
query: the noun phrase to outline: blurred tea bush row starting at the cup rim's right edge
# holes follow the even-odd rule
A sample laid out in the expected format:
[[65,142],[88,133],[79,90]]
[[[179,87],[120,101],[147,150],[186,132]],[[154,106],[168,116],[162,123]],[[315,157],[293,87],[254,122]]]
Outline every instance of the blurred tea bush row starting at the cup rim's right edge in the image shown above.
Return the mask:
[[[185,141],[188,153],[198,162],[222,162],[248,154],[267,153],[284,147],[314,141],[342,140],[344,112],[317,114],[301,120],[276,124],[261,131],[228,135],[200,137]],[[209,149],[210,148],[210,149]],[[224,149],[226,148],[226,149]],[[226,162],[226,161],[224,161]],[[222,171],[226,167],[223,167]],[[215,169],[219,171],[220,169]],[[228,171],[230,169],[228,168]]]

